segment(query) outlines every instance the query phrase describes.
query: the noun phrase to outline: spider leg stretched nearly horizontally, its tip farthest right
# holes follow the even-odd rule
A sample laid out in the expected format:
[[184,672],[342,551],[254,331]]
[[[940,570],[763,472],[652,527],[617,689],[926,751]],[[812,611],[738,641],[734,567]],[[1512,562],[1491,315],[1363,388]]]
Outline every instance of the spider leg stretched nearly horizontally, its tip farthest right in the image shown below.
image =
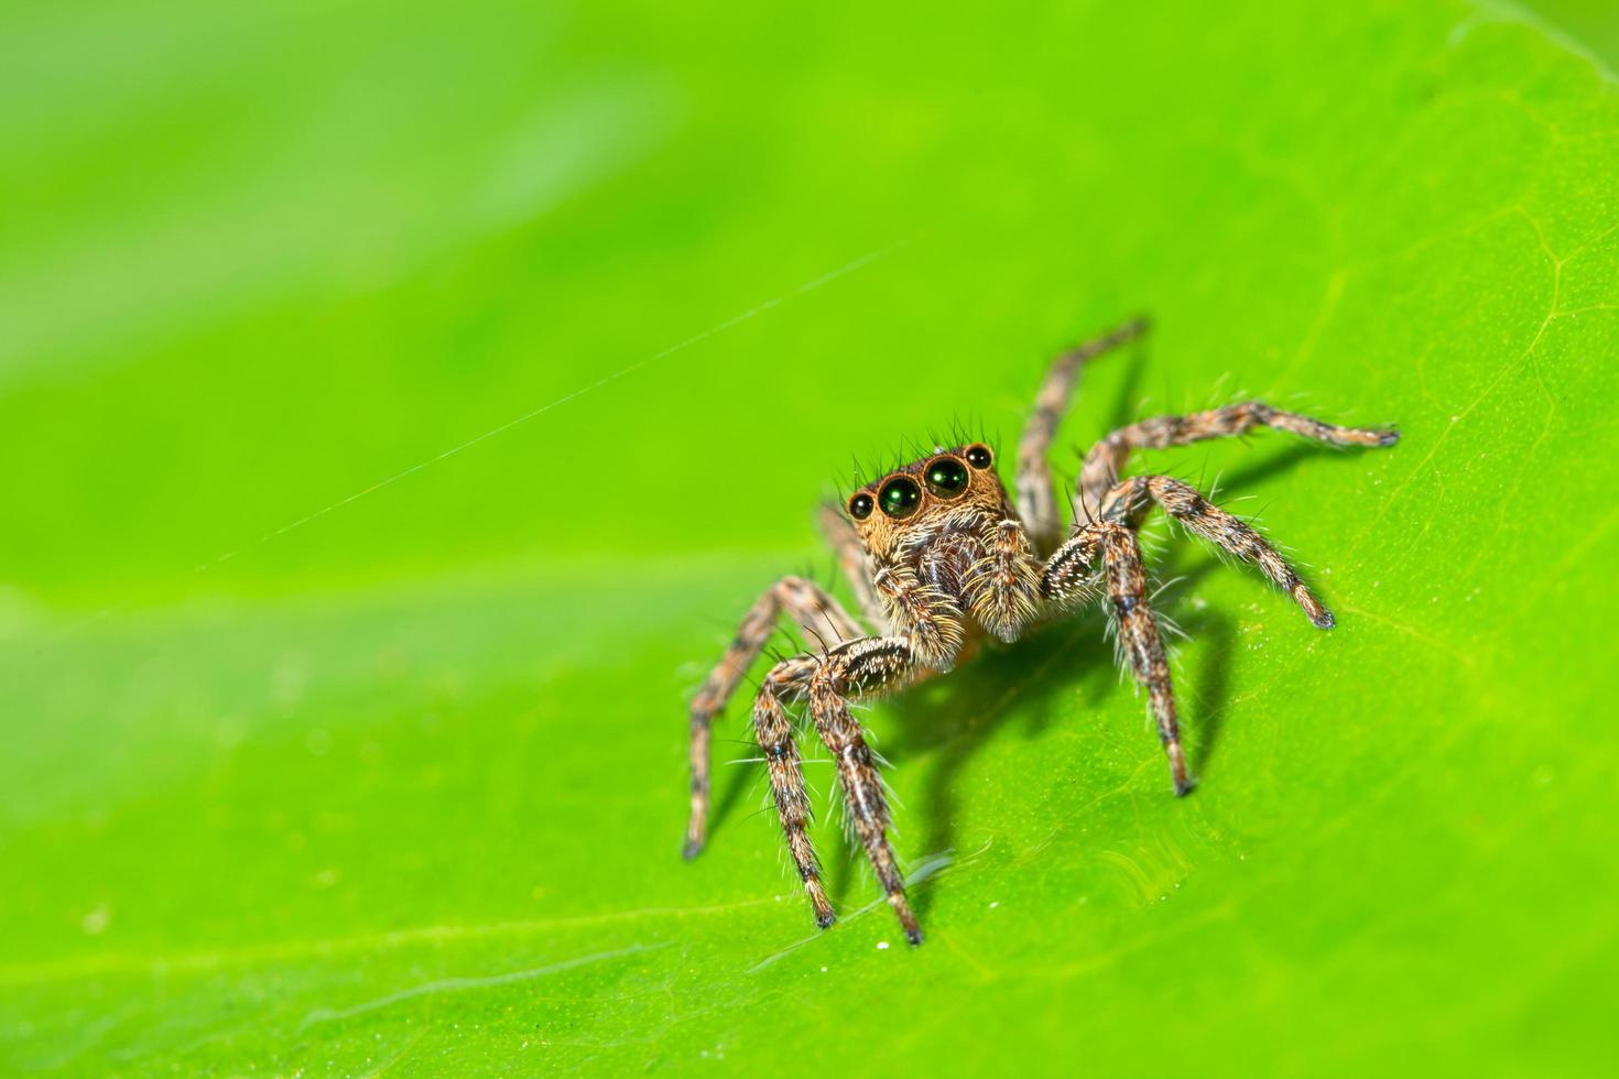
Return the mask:
[[1154,416],[1120,427],[1091,446],[1080,468],[1080,500],[1088,510],[1096,511],[1107,489],[1119,482],[1132,450],[1162,450],[1205,438],[1230,438],[1245,435],[1255,427],[1287,430],[1334,446],[1392,446],[1400,438],[1392,429],[1339,427],[1298,413],[1284,413],[1263,401],[1243,401],[1187,416]]

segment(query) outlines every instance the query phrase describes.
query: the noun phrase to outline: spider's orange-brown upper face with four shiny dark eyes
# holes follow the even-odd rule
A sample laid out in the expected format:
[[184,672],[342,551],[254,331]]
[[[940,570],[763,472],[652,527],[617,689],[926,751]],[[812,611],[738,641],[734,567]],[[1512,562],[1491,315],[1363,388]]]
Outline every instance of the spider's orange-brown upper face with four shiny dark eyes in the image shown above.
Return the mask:
[[999,519],[1009,510],[994,464],[994,451],[981,442],[941,446],[856,490],[843,513],[866,550],[884,555],[937,534],[952,519]]

